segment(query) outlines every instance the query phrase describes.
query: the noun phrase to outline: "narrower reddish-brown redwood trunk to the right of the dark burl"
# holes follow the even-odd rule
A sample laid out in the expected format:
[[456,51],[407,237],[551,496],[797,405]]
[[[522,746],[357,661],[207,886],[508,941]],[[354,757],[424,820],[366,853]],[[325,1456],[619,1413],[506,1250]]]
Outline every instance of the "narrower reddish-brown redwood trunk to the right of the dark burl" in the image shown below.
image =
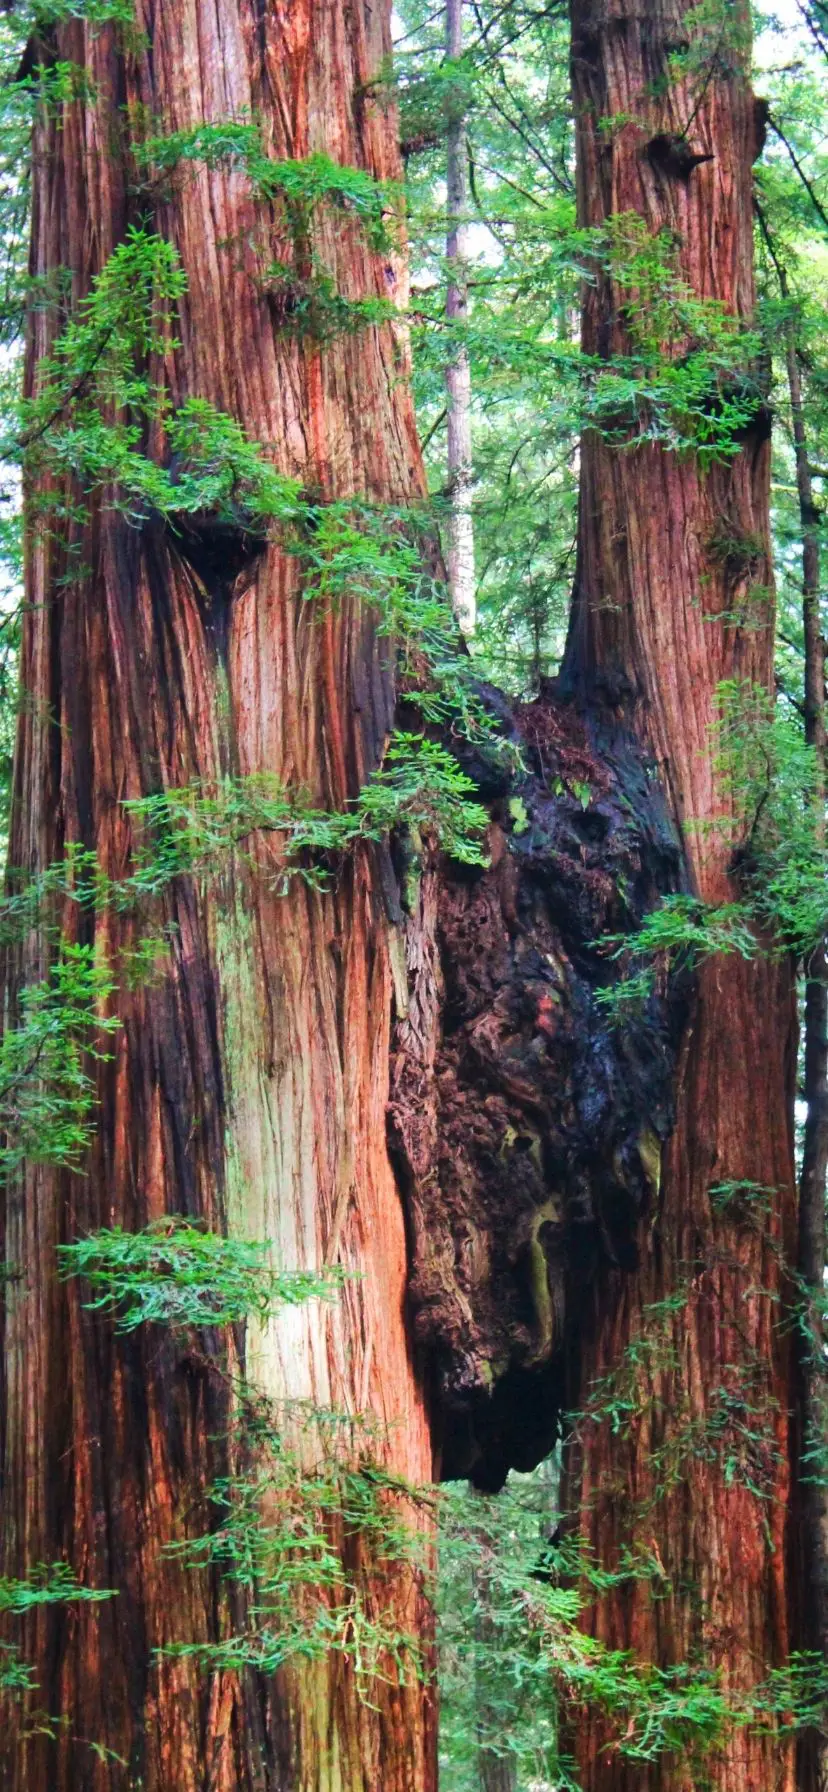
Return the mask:
[[[692,290],[747,321],[756,151],[747,14],[731,9],[728,43],[712,32],[708,47],[701,16],[677,0],[588,0],[572,18],[579,222],[636,213],[651,237],[668,231]],[[627,321],[609,274],[586,289],[590,355],[629,351]],[[762,410],[740,452],[708,471],[695,455],[654,443],[584,435],[563,683],[609,704],[652,753],[683,831],[690,889],[710,903],[738,896],[733,797],[713,744],[717,686],[772,690],[769,581]],[[790,966],[763,955],[708,959],[638,1267],[602,1274],[577,1339],[584,1409],[597,1376],[624,1360],[638,1369],[622,1435],[599,1412],[581,1425],[570,1500],[602,1564],[638,1548],[660,1575],[658,1597],[645,1579],[600,1597],[595,1634],[660,1665],[719,1670],[737,1697],[790,1645],[792,1385],[778,1301],[783,1260],[796,1249],[794,1064]],[[751,1201],[749,1185],[769,1190],[767,1206]],[[577,1756],[588,1792],[690,1792],[697,1783],[679,1754],[624,1763],[604,1740],[586,1715]],[[792,1749],[772,1733],[735,1729],[704,1772],[717,1792],[790,1788]]]

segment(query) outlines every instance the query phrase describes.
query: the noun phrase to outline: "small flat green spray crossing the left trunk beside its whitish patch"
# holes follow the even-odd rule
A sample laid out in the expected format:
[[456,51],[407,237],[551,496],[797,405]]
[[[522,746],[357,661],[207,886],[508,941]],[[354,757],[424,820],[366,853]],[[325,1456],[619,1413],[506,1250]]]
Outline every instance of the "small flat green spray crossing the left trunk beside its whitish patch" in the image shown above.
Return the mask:
[[145,1231],[120,1226],[57,1245],[61,1276],[81,1276],[91,1312],[115,1314],[118,1331],[142,1324],[229,1326],[254,1314],[312,1297],[332,1299],[342,1276],[332,1269],[281,1271],[269,1244],[224,1238],[165,1213]]

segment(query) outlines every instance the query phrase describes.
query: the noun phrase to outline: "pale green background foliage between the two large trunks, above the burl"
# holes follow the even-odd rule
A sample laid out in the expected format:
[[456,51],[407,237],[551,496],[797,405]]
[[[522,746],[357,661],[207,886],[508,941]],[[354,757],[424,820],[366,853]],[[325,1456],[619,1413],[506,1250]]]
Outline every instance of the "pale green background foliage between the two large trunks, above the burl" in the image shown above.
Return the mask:
[[[570,364],[559,375],[574,353],[579,283],[563,247],[574,226],[566,22],[557,9],[484,4],[468,9],[464,56],[446,61],[443,14],[419,0],[396,13],[414,391],[430,491],[444,516],[444,369],[462,342],[473,392],[473,654],[482,676],[525,690],[554,670],[563,645],[575,521],[577,373]],[[466,324],[448,324],[444,131],[459,115],[470,145],[470,312]]]

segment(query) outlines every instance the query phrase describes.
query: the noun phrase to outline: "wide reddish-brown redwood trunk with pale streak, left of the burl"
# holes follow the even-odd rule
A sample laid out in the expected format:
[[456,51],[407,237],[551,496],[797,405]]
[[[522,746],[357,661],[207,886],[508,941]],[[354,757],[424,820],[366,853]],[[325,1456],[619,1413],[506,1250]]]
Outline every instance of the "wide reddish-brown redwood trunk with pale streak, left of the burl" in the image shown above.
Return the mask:
[[[66,22],[41,47],[81,65],[91,97],[38,127],[32,274],[68,267],[77,303],[127,226],[149,217],[188,276],[179,342],[151,369],[172,403],[203,396],[229,412],[323,500],[419,496],[400,330],[324,348],[285,333],[262,278],[290,256],[280,202],[254,201],[229,161],[147,183],[129,143],[145,120],[174,133],[256,118],[272,158],[324,151],[396,177],[394,120],[371,99],[389,5],[138,0],[136,25],[124,38]],[[401,296],[398,256],[375,253],[353,211],[321,206],[314,233],[341,292]],[[54,333],[52,314],[36,310],[29,391]],[[124,797],[194,780],[211,788],[228,772],[267,771],[341,808],[378,763],[392,717],[391,652],[358,599],[321,613],[303,599],[301,563],[278,545],[215,561],[197,530],[185,541],[161,523],[136,527],[106,493],[65,541],[30,538],[23,692],[11,862],[30,873],[82,842],[122,876],[133,849]],[[56,1283],[59,1242],[167,1211],[271,1238],[285,1265],[360,1271],[337,1306],[251,1335],[247,1369],[265,1394],[369,1410],[385,1462],[428,1478],[385,1150],[382,855],[357,851],[326,891],[294,882],[280,894],[278,867],[278,842],[254,835],[203,887],[170,887],[161,975],[116,998],[122,1025],[99,1066],[84,1174],[30,1165],[4,1190],[16,1276],[4,1319],[4,1561],[25,1573],[66,1557],[86,1584],[118,1591],[25,1622],[39,1684],[4,1724],[9,1792],[432,1785],[419,1684],[391,1674],[367,1710],[335,1656],[274,1688],[231,1672],[204,1683],[192,1661],[154,1654],[211,1640],[224,1622],[210,1575],[165,1554],[220,1460],[220,1378],[176,1337],[113,1337],[75,1283]],[[88,916],[68,909],[65,925],[90,937]],[[133,923],[108,912],[97,943],[116,969]],[[39,969],[38,950],[23,952],[18,973]],[[384,1584],[400,1625],[418,1631],[418,1579],[407,1570]]]

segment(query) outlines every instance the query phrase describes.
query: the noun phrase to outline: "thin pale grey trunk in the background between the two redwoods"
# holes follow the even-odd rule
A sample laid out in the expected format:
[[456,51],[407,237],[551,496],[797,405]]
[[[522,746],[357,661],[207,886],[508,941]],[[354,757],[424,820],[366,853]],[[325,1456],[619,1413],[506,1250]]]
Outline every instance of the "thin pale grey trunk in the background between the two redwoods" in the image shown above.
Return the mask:
[[[462,0],[446,0],[446,56],[462,56]],[[464,323],[466,299],[466,120],[452,106],[446,136],[446,317]],[[475,631],[475,525],[471,518],[471,367],[459,348],[446,367],[448,398],[448,591],[464,634]]]

